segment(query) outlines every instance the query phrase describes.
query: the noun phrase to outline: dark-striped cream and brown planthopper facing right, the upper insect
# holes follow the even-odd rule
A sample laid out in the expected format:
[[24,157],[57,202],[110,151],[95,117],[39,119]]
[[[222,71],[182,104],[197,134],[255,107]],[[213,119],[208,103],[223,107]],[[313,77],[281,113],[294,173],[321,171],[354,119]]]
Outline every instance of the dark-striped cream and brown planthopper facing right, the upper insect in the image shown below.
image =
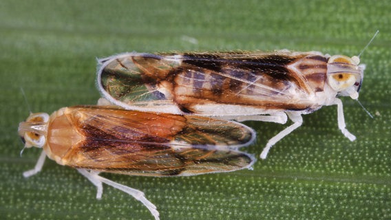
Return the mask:
[[98,61],[97,86],[125,109],[202,115],[226,120],[293,124],[262,151],[302,125],[303,114],[337,105],[337,121],[350,141],[342,102],[357,100],[365,65],[359,57],[320,52],[125,53]]

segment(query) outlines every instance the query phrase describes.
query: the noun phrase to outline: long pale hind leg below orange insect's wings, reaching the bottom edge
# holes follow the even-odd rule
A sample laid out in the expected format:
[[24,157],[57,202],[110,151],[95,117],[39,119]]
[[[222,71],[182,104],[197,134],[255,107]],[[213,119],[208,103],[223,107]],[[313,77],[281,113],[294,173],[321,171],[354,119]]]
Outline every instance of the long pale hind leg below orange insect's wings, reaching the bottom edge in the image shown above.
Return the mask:
[[[130,188],[129,186],[125,186],[123,184],[118,184],[115,181],[111,181],[109,179],[106,179],[105,177],[101,177],[100,175],[98,175],[99,174],[98,172],[95,172],[93,170],[88,171],[85,169],[78,169],[78,172],[80,172],[82,175],[87,177],[87,179],[89,179],[89,181],[91,181],[92,184],[94,184],[98,188],[98,194],[99,194],[99,191],[101,191],[101,194],[102,194],[103,190],[99,189],[99,188],[100,187],[102,188],[102,183],[105,183],[109,186],[117,188],[118,190],[126,192],[127,194],[134,197],[134,199],[141,201],[141,203],[144,204],[144,206],[146,206],[148,208],[149,212],[151,212],[151,214],[155,217],[156,220],[160,219],[159,212],[156,209],[156,206],[153,203],[151,203],[151,201],[149,201],[147,198],[145,198],[144,192],[141,192],[140,190],[136,190],[134,188]],[[98,194],[96,195],[96,197],[98,197]]]

